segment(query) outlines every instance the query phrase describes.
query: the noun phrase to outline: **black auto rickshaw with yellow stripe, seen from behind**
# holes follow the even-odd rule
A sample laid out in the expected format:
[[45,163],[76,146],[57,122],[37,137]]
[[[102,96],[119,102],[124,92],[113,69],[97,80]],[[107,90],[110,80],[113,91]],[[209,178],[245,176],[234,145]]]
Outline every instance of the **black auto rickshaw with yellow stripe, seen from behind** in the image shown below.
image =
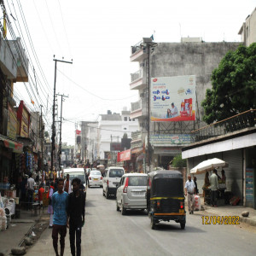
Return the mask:
[[154,171],[148,173],[148,217],[154,230],[160,221],[174,220],[185,229],[186,212],[183,192],[183,176],[178,171]]

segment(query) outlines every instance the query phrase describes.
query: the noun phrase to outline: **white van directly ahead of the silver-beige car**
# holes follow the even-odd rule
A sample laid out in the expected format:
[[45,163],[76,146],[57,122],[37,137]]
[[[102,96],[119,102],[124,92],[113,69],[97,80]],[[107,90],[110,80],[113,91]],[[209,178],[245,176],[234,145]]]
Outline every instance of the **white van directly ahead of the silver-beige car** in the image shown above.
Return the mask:
[[116,195],[121,177],[125,174],[123,167],[108,167],[103,177],[103,195],[108,199],[110,195]]

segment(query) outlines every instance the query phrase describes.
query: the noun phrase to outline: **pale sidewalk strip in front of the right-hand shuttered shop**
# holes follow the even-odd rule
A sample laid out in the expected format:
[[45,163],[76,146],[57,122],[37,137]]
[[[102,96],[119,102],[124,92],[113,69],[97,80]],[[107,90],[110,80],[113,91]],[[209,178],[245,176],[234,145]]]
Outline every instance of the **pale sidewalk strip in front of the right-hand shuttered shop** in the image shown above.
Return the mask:
[[[233,207],[230,205],[224,205],[223,207],[210,207],[210,206],[204,205],[202,197],[201,197],[201,207],[203,207],[204,210],[200,212],[208,212],[218,216],[239,216],[240,222],[247,223],[251,226],[256,226],[256,210],[253,208],[242,207],[242,206]],[[244,212],[244,211],[249,212],[248,217],[241,216],[241,212]]]

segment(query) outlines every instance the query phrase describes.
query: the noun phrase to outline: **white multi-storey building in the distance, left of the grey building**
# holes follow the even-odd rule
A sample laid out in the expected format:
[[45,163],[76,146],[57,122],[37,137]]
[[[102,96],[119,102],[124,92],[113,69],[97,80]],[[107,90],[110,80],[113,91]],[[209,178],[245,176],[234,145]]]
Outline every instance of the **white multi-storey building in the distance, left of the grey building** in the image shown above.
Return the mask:
[[[111,151],[122,151],[118,145],[124,134],[131,138],[131,132],[139,129],[137,119],[131,119],[130,115],[130,111],[125,109],[121,113],[112,113],[108,110],[107,114],[100,115],[96,152],[98,160],[107,160]],[[110,147],[111,143],[113,148]]]

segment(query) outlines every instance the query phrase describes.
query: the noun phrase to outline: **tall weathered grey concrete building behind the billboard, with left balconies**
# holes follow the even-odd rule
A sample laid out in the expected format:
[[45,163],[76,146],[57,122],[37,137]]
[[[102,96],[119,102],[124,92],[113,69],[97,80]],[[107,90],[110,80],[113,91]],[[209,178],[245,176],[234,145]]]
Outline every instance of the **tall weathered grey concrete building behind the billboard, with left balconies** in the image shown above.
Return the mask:
[[[195,75],[196,84],[196,121],[183,122],[149,122],[150,137],[164,135],[166,143],[150,139],[153,166],[166,167],[176,154],[181,153],[185,143],[172,143],[168,137],[189,134],[190,131],[206,125],[202,122],[203,108],[207,88],[212,88],[211,76],[214,68],[229,50],[234,50],[240,43],[206,43],[201,38],[182,38],[182,43],[152,44],[151,38],[131,47],[131,61],[137,61],[139,70],[131,73],[131,90],[137,90],[140,100],[131,102],[131,119],[137,118],[141,135],[136,136],[136,147],[147,146],[148,133],[148,84],[150,78]],[[147,47],[147,45],[151,45]],[[145,46],[146,45],[146,46]],[[149,49],[149,50],[148,50]],[[149,59],[149,61],[148,61]],[[148,67],[149,64],[149,67]],[[140,142],[138,142],[140,140]],[[133,144],[134,142],[131,142]],[[141,143],[139,145],[139,143]]]

